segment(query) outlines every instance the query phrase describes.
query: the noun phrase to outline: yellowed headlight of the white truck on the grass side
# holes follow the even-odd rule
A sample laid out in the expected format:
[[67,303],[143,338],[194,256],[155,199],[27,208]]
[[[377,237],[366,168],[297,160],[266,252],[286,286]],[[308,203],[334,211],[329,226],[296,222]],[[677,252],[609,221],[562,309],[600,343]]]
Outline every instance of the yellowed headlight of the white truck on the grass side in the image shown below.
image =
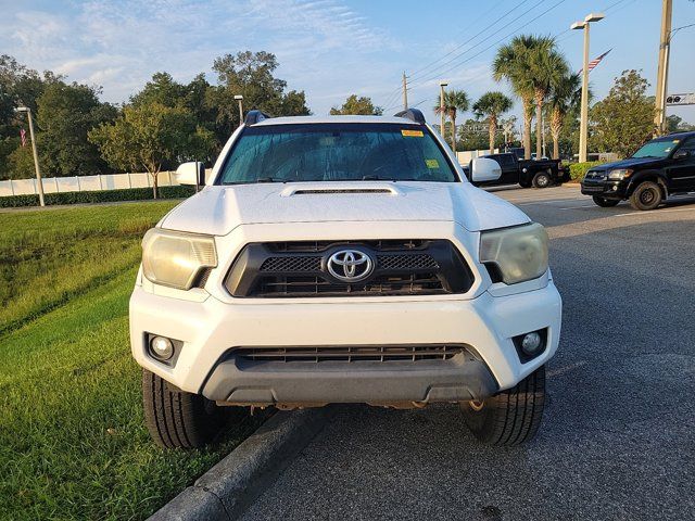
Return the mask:
[[142,239],[142,274],[155,284],[188,290],[202,269],[215,266],[212,237],[152,228]]

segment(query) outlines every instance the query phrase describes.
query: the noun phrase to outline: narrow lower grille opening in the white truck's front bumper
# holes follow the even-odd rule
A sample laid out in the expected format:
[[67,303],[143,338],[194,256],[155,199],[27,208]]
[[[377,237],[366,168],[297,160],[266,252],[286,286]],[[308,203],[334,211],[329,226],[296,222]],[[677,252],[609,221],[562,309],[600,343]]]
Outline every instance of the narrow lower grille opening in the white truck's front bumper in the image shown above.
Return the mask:
[[419,361],[448,360],[463,353],[459,345],[331,345],[239,347],[237,358],[249,361]]

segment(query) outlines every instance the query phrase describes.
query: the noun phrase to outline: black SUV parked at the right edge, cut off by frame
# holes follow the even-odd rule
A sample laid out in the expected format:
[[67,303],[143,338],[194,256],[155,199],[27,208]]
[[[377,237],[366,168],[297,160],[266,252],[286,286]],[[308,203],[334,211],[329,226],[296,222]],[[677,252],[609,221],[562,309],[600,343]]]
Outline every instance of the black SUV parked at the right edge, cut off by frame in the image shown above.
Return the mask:
[[653,139],[631,157],[592,167],[582,193],[598,206],[630,200],[635,209],[654,209],[669,195],[695,191],[695,132]]

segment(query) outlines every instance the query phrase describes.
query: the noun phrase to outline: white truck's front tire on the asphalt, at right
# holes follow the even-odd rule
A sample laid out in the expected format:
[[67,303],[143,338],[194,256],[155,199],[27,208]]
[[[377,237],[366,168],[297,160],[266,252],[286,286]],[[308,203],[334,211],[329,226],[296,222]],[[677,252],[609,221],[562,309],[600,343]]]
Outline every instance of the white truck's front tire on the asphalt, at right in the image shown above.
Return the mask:
[[511,446],[529,442],[541,425],[545,406],[545,366],[483,402],[460,404],[473,435],[490,445]]

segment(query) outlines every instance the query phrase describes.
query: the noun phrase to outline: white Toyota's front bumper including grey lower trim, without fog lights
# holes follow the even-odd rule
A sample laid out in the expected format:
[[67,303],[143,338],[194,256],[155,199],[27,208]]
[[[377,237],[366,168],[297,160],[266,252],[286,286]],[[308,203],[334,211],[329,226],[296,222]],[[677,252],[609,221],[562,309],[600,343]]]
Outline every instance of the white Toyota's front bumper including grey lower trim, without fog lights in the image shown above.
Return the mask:
[[[504,292],[496,292],[504,294]],[[316,300],[318,301],[318,300]],[[350,301],[350,302],[349,302]],[[244,403],[456,402],[516,385],[555,353],[561,301],[552,280],[533,291],[470,300],[320,298],[320,302],[189,302],[136,287],[132,355],[177,387]],[[513,338],[546,329],[545,351],[522,364]],[[148,333],[182,342],[174,367],[148,355]],[[453,359],[244,364],[253,346],[464,344]]]

